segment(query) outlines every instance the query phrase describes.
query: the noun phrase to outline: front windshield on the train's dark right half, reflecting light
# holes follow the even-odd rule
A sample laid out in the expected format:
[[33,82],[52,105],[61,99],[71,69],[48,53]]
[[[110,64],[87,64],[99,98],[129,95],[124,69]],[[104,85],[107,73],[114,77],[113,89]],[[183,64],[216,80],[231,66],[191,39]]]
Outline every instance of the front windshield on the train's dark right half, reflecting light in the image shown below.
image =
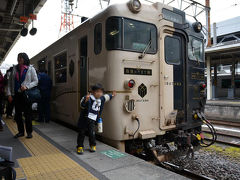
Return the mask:
[[203,43],[200,40],[190,38],[188,43],[188,57],[191,60],[203,62]]

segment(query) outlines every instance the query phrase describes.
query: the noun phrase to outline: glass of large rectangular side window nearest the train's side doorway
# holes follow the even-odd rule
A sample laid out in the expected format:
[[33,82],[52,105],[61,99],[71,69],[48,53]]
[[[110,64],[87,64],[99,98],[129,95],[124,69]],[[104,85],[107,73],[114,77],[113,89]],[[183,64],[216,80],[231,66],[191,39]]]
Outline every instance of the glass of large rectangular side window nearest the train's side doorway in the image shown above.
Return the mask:
[[67,82],[67,52],[54,57],[55,62],[55,83]]

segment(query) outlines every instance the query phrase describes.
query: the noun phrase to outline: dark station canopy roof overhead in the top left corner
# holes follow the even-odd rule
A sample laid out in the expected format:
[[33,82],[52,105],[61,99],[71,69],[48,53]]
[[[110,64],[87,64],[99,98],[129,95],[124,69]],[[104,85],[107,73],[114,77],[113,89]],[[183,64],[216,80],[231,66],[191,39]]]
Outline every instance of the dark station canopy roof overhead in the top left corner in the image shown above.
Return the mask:
[[[23,22],[20,17],[37,14],[46,0],[1,0],[0,5],[0,62],[4,61],[20,37]],[[31,20],[25,24],[30,24]]]

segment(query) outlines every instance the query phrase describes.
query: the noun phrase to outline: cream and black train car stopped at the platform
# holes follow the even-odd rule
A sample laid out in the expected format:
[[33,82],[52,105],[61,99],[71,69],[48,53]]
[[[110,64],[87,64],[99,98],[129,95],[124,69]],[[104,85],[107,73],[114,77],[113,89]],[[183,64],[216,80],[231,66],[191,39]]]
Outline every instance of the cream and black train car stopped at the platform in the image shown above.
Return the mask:
[[183,11],[138,0],[87,19],[31,59],[53,79],[52,118],[76,126],[81,97],[101,83],[106,92],[118,93],[102,115],[101,136],[109,144],[123,151],[129,145],[133,151],[136,142],[199,144],[205,101],[201,28]]

